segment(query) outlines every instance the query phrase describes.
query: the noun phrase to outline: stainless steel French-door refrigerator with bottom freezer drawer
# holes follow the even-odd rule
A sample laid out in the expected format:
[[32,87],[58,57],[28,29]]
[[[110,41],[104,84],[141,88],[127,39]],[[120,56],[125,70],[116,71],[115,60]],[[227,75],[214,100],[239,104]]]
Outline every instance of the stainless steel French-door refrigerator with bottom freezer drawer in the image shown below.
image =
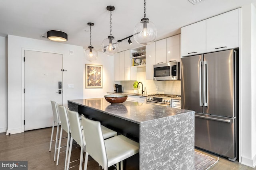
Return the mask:
[[181,58],[181,108],[195,111],[195,147],[237,156],[237,51]]

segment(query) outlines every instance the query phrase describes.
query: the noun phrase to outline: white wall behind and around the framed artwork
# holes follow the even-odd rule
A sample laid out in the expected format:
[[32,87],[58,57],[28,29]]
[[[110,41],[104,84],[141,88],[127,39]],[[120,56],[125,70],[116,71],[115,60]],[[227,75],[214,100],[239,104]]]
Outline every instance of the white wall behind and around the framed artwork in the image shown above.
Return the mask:
[[84,98],[102,98],[107,92],[112,92],[114,87],[114,57],[98,52],[96,61],[87,61],[86,64],[102,65],[102,88],[85,88],[85,64],[84,64]]

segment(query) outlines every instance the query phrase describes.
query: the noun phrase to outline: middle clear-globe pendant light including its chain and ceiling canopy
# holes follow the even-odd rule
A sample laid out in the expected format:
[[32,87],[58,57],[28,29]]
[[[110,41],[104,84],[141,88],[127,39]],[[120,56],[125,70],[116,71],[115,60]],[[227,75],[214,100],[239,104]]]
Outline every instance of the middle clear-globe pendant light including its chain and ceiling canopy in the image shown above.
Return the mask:
[[110,35],[104,39],[101,44],[101,49],[106,55],[115,55],[119,49],[119,43],[114,39],[112,35],[112,11],[115,10],[114,6],[107,6],[107,10],[110,11]]

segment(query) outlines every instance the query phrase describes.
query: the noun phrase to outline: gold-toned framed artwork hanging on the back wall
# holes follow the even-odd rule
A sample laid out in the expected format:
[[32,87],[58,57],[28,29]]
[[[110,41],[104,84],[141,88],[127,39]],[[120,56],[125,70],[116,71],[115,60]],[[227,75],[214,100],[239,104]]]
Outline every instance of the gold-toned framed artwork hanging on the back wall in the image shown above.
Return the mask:
[[102,88],[102,65],[85,64],[85,88]]

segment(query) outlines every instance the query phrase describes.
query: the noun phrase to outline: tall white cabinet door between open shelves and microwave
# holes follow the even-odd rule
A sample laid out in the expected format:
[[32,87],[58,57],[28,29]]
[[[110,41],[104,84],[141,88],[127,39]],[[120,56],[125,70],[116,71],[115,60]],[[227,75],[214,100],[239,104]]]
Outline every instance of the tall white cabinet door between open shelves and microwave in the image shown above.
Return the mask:
[[156,43],[146,46],[146,80],[153,80],[154,69],[156,63]]

